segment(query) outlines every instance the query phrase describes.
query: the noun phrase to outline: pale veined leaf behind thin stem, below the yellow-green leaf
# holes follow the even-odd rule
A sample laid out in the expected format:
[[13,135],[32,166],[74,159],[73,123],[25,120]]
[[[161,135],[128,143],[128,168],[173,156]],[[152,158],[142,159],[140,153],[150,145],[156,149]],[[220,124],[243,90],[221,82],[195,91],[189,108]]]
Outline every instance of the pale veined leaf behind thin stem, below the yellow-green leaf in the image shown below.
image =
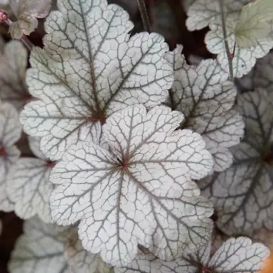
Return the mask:
[[[225,25],[227,31],[227,43],[230,48],[230,53],[233,52],[235,45],[235,26],[239,18],[239,13],[225,16]],[[228,56],[225,50],[225,40],[223,36],[223,26],[220,19],[210,23],[211,31],[205,36],[205,44],[210,53],[217,55],[218,63],[223,70],[229,71]],[[257,41],[257,45],[251,48],[240,48],[235,45],[234,58],[232,59],[233,74],[235,77],[242,77],[250,72],[254,67],[257,58],[262,58],[273,47],[272,38],[263,38]]]

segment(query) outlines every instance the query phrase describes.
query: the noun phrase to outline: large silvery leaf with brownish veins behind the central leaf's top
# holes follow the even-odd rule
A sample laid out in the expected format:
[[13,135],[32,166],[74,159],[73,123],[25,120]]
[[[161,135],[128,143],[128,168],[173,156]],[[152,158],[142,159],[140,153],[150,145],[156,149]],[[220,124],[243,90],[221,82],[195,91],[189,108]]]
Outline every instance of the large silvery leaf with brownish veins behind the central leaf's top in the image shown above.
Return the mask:
[[33,50],[27,73],[29,91],[40,100],[21,113],[25,132],[42,137],[41,150],[51,160],[77,141],[97,143],[101,122],[113,112],[164,102],[173,83],[164,38],[129,38],[133,25],[122,8],[106,0],[58,5],[45,23],[45,50]]

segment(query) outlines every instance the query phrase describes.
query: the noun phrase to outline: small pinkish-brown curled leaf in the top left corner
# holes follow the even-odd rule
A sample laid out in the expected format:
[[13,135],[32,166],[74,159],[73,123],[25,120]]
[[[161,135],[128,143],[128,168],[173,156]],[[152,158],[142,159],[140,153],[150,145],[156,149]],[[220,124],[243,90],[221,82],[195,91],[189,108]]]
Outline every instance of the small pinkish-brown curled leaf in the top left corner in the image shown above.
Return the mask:
[[9,4],[17,18],[17,21],[9,26],[9,32],[11,38],[20,39],[23,34],[29,35],[38,28],[37,18],[48,16],[51,0],[10,0]]

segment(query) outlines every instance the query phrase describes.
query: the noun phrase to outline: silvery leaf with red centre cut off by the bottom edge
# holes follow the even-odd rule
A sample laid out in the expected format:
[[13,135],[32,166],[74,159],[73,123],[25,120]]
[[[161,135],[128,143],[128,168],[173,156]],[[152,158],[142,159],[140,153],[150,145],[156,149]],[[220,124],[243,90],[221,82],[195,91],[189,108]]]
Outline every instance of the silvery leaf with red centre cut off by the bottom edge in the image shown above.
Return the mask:
[[163,262],[154,255],[139,251],[132,263],[125,268],[115,268],[115,273],[258,273],[270,252],[262,244],[252,244],[249,238],[238,237],[224,242],[213,257],[210,258],[209,253],[210,247],[207,247],[197,255]]

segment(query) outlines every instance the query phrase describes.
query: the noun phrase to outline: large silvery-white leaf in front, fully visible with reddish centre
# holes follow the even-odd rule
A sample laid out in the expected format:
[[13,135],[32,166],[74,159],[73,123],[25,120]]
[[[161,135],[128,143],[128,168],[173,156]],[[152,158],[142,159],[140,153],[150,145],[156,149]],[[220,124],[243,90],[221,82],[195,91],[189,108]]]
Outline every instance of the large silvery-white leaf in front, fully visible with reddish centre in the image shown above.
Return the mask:
[[213,158],[199,134],[175,131],[181,120],[165,106],[112,114],[102,127],[112,152],[85,142],[53,168],[51,181],[62,183],[50,197],[53,220],[80,220],[83,247],[117,266],[134,259],[137,244],[161,259],[206,244],[212,207],[192,179],[206,176]]

